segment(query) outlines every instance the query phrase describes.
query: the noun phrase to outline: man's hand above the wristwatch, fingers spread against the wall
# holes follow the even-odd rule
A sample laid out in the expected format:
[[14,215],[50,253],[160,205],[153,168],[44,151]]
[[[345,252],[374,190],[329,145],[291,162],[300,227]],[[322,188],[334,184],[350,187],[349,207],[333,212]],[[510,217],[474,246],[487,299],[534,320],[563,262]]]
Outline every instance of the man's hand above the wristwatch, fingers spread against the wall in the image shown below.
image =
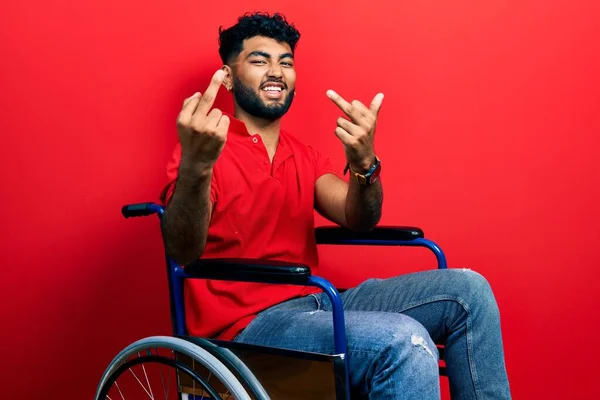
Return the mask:
[[333,90],[327,91],[329,97],[350,118],[337,119],[335,134],[344,144],[346,159],[353,170],[367,172],[375,159],[375,128],[383,93],[377,94],[367,108],[358,100],[348,103]]

